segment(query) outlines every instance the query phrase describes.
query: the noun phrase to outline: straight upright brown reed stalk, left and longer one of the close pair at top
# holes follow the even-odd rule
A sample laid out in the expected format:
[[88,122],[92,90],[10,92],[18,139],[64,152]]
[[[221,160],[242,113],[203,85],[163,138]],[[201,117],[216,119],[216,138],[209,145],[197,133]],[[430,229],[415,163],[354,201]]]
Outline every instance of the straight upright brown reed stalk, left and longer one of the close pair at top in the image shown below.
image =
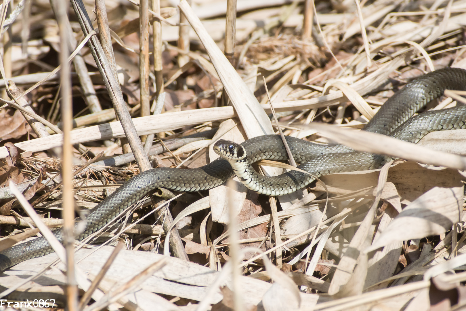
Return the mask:
[[[141,117],[151,115],[149,100],[149,0],[139,2],[139,92]],[[144,137],[143,137],[144,140]]]

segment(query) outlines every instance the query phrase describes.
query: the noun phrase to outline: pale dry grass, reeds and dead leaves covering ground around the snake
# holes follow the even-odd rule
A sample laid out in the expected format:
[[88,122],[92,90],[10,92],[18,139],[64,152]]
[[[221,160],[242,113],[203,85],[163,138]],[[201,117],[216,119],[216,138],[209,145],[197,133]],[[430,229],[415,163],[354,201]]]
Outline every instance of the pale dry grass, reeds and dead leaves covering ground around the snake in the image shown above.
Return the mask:
[[[323,176],[324,185],[313,183],[304,193],[279,197],[276,206],[242,186],[176,196],[160,190],[125,210],[109,228],[75,244],[76,282],[80,297],[86,294],[70,310],[429,310],[437,303],[435,310],[460,309],[463,298],[444,298],[447,289],[464,291],[466,281],[465,160],[447,152],[465,153],[465,130],[429,134],[420,142],[423,147],[406,149],[393,139],[341,127],[362,128],[413,77],[444,67],[466,69],[465,1],[361,1],[361,14],[354,1],[320,1],[315,3],[319,23],[308,39],[301,35],[303,3],[276,1],[270,7],[251,1],[253,7],[246,7],[238,2],[236,46],[229,58],[236,70],[222,54],[226,1],[193,0],[192,8],[186,1],[177,8],[160,2],[160,10],[158,1],[143,5],[162,19],[159,27],[149,14],[154,22],[150,50],[160,56],[161,70],[158,63],[154,72],[152,55],[150,64],[139,65],[134,1],[105,1],[103,26],[111,29],[117,73],[110,52],[84,44],[72,62],[74,164],[67,168],[75,172],[72,187],[81,216],[140,172],[124,138],[127,128],[143,145],[149,144],[143,135],[154,139],[150,134],[155,134],[146,145],[154,167],[203,166],[215,158],[210,146],[220,137],[241,142],[274,133],[277,126],[285,135],[319,143],[333,139],[410,161]],[[0,110],[4,245],[30,239],[37,230],[28,227],[40,219],[48,226],[62,223],[62,83],[58,75],[41,81],[60,65],[59,27],[48,1],[25,5],[1,37],[0,72],[22,90],[37,83],[22,97],[29,105],[23,111],[32,109],[49,126],[40,124],[43,131],[37,134],[16,103],[7,100],[5,80],[0,82],[5,90],[0,95],[5,103]],[[94,22],[94,2],[84,5]],[[178,27],[172,25],[179,22],[180,10],[192,29],[182,34],[184,45],[177,48]],[[9,25],[10,12],[4,14],[3,24]],[[69,19],[79,44],[90,31],[82,33],[73,7]],[[96,22],[93,26],[97,29]],[[164,44],[152,50],[152,31],[159,28]],[[87,39],[96,44],[95,35]],[[227,45],[232,48],[232,42]],[[141,93],[139,72],[148,68],[149,85]],[[262,76],[279,124],[267,116]],[[163,91],[162,113],[147,116],[147,97],[152,114]],[[124,117],[123,126],[115,119],[122,114],[121,107],[113,110],[116,102],[122,104],[119,94],[134,127]],[[450,95],[426,109],[461,101],[462,94]],[[133,150],[142,148],[138,139],[130,144]],[[136,152],[144,167],[141,157],[144,153]],[[14,195],[20,196],[10,183],[35,211],[21,208],[28,203],[16,201]],[[49,235],[47,226],[40,230]],[[110,256],[118,243],[125,246]],[[58,308],[72,301],[60,271],[69,259],[60,244],[55,247],[62,261],[54,253],[1,275],[0,285],[7,288],[1,298],[54,299]],[[106,273],[101,271],[105,263]]]

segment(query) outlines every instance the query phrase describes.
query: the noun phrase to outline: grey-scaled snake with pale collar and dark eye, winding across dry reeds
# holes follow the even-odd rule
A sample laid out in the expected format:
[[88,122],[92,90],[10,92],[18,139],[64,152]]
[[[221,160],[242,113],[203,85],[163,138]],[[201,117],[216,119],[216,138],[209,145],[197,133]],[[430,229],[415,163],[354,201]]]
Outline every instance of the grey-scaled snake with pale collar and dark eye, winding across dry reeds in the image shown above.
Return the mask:
[[[414,116],[427,103],[442,96],[446,89],[466,90],[466,70],[444,68],[413,79],[387,99],[363,130],[417,143],[432,131],[464,129],[464,105]],[[285,138],[293,158],[300,164],[298,168],[316,177],[377,169],[388,160],[387,156],[355,152],[344,145],[317,144],[289,136]],[[236,174],[252,191],[275,196],[292,193],[314,180],[309,174],[298,171],[274,177],[255,172],[251,164],[261,159],[288,159],[280,135],[258,136],[241,144],[219,140],[213,149],[221,157],[205,166],[191,169],[158,167],[134,176],[89,211],[86,226],[76,239],[82,241],[157,188],[179,192],[207,190],[225,183]],[[63,241],[62,229],[53,231],[53,234],[60,242]],[[44,237],[16,244],[0,252],[0,270],[53,251]]]

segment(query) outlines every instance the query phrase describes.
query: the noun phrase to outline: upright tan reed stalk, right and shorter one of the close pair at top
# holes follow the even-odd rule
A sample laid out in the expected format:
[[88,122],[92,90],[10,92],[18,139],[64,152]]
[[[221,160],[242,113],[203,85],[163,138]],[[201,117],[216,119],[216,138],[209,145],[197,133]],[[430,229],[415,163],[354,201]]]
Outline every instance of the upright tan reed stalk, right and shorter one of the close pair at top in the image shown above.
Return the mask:
[[[160,0],[152,0],[152,10],[160,15]],[[152,41],[154,55],[155,96],[164,91],[164,77],[162,75],[162,23],[154,19],[152,22]]]

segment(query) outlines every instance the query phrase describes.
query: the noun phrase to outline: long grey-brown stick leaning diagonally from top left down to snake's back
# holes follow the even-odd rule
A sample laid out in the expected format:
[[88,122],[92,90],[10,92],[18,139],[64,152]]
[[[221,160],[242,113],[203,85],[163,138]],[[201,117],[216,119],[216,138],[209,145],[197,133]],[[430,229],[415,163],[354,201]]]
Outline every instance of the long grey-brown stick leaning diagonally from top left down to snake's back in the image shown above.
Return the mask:
[[[75,10],[78,21],[81,24],[82,32],[84,35],[88,35],[90,32],[94,31],[82,0],[71,0],[71,4]],[[141,172],[146,171],[151,168],[151,164],[149,163],[147,156],[144,154],[141,140],[137,135],[137,131],[134,128],[130,113],[126,108],[126,103],[123,100],[123,94],[120,89],[120,84],[117,80],[116,72],[112,70],[112,65],[104,54],[102,46],[95,36],[92,36],[89,40],[89,49],[92,56],[94,57],[94,60],[96,61],[99,72],[102,75],[103,82],[105,83],[107,91],[109,92],[110,99],[120,119],[126,138],[131,145],[131,150],[134,153],[137,165],[139,166]],[[113,61],[115,61],[115,59],[113,59]]]

